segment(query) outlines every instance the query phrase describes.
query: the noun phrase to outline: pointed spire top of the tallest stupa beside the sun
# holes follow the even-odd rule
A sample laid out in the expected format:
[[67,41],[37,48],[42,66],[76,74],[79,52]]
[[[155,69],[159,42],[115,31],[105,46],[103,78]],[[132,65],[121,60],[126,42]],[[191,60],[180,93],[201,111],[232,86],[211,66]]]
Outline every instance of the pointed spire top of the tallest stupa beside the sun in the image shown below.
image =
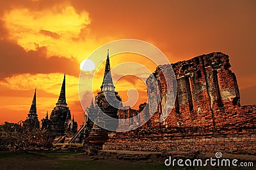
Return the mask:
[[[109,88],[107,88],[107,87],[109,87]],[[104,78],[103,78],[102,86],[100,87],[100,89],[102,91],[115,89],[115,87],[113,85],[113,81],[112,81],[111,71],[110,71],[109,50],[108,50],[108,55],[107,55],[107,59],[106,59]]]

